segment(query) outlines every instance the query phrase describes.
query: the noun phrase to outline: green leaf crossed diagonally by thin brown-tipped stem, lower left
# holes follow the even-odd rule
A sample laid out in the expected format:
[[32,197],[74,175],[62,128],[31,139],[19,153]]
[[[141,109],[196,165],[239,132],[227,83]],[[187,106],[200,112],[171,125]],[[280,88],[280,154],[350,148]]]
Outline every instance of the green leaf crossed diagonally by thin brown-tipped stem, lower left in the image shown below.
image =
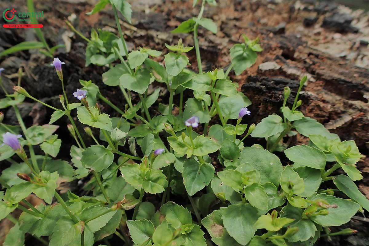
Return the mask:
[[108,207],[95,206],[84,209],[79,217],[81,221],[87,221],[87,219],[94,218],[96,215],[102,214],[103,212],[107,211],[110,212],[104,214],[103,216],[99,216],[98,218],[93,219],[85,224],[85,226],[87,226],[90,231],[96,232],[103,228],[103,226],[105,226],[110,221],[110,219],[113,218],[115,212],[117,211],[113,211],[111,210],[111,208]]

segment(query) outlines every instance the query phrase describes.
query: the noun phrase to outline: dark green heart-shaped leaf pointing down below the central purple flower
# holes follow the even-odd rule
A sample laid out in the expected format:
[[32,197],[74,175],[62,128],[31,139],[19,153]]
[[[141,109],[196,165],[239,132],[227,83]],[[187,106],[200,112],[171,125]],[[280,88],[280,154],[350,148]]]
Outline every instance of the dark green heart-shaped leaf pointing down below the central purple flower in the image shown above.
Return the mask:
[[213,179],[215,169],[210,163],[200,164],[194,159],[187,160],[183,165],[183,184],[189,195],[207,186]]

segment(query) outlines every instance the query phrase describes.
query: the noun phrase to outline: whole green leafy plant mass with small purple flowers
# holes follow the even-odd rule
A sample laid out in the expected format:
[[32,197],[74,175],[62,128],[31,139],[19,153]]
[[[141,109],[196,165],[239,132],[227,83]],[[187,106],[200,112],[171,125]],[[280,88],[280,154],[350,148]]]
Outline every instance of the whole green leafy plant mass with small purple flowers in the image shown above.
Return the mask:
[[[53,65],[62,83],[62,109],[21,87],[21,72],[13,94],[3,88],[7,94],[0,100],[1,108],[13,107],[20,125],[0,124],[4,143],[0,160],[11,164],[0,176],[4,189],[0,192],[0,219],[15,224],[6,242],[22,244],[28,233],[44,244],[61,246],[107,242],[111,235],[127,245],[205,246],[204,234],[208,233],[216,245],[224,246],[313,245],[320,236],[355,233],[352,229],[329,233],[329,228],[369,209],[368,200],[354,183],[362,179],[355,164],[363,155],[354,141],[341,141],[298,110],[306,76],[293,105],[287,104],[291,91],[285,87],[279,115],[269,115],[256,125],[242,124],[244,117],[252,117],[246,108],[251,101],[228,75],[232,69],[239,75],[255,63],[257,52],[262,52],[258,38],[250,40],[243,35],[244,42],[232,46],[232,63],[226,72],[203,72],[198,28],[217,32],[212,20],[202,18],[204,6],[216,3],[203,0],[198,17],[172,31],[193,32],[196,73],[186,68],[186,53],[193,47],[185,46],[182,39],[176,45],[165,44],[169,52],[163,55],[164,65],[152,59],[163,51],[141,47],[128,52],[117,11],[130,22],[131,6],[125,0],[100,0],[89,14],[107,4],[113,7],[120,37],[102,30],[92,30],[91,39],[82,36],[88,42],[86,66],[109,65],[102,81],[122,92],[127,102],[124,109],[105,98],[91,80],[80,80],[80,89],[73,93],[75,100],[69,103],[64,63],[58,58]],[[169,94],[168,104],[159,104],[155,116],[150,108],[160,89],[148,94],[154,81],[162,83]],[[183,105],[185,90],[193,97]],[[132,94],[140,98],[135,105]],[[175,96],[178,105],[173,103]],[[26,128],[18,110],[26,97],[54,110],[49,124]],[[99,100],[121,117],[102,112]],[[86,146],[71,115],[85,125],[86,134],[96,144]],[[64,116],[70,121],[66,127],[76,144],[70,148],[72,164],[55,159],[63,143],[54,134],[58,126],[53,123]],[[1,121],[3,118],[1,113]],[[212,119],[220,124],[209,127]],[[290,146],[287,138],[297,133],[309,138],[308,145]],[[265,138],[266,146],[244,146],[248,136]],[[34,151],[37,145],[43,152],[40,155]],[[128,149],[130,153],[125,153]],[[285,155],[289,164],[283,166],[275,152]],[[21,162],[13,158],[15,154]],[[347,175],[334,175],[337,169]],[[81,179],[85,180],[83,192],[59,194],[62,182]],[[331,181],[337,189],[322,188]],[[350,199],[336,197],[339,192]],[[34,207],[25,200],[31,193],[45,205]],[[180,196],[182,204],[170,200],[171,196]],[[158,202],[144,201],[144,197],[155,197]],[[23,211],[18,220],[11,215],[16,208]],[[126,214],[130,209],[133,213]]]

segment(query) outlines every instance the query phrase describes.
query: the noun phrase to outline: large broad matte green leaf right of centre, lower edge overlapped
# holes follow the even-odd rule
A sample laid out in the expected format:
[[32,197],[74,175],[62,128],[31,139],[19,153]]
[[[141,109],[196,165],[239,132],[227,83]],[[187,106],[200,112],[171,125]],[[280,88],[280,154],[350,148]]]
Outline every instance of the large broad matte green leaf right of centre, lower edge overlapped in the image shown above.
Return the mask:
[[239,157],[241,164],[250,163],[261,175],[261,184],[270,182],[279,186],[283,171],[279,158],[268,150],[257,147],[245,147]]

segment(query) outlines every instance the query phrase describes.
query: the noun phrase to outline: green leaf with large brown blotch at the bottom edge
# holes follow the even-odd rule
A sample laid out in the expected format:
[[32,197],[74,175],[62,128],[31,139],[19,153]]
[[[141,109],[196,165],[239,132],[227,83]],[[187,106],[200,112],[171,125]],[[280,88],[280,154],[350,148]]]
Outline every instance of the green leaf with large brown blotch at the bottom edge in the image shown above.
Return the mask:
[[237,243],[224,228],[221,210],[215,210],[211,214],[207,215],[202,221],[201,224],[207,229],[211,236],[211,240],[220,246],[239,246]]

